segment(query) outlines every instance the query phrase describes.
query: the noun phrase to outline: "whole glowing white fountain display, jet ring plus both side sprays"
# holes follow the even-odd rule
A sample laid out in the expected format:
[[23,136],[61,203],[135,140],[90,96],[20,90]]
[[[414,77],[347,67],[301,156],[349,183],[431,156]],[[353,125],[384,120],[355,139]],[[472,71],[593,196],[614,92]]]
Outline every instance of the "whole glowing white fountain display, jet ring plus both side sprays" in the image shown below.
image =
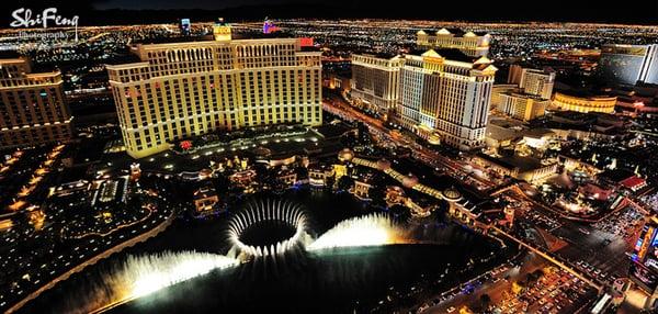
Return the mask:
[[[247,228],[266,221],[288,224],[295,228],[295,234],[269,246],[252,246],[240,240]],[[228,256],[196,251],[128,256],[117,271],[104,277],[104,283],[98,291],[91,292],[97,295],[95,304],[81,305],[76,309],[77,312],[103,312],[116,304],[215,269],[234,267],[252,258],[276,257],[293,248],[320,250],[411,243],[407,232],[386,214],[370,214],[342,221],[315,242],[308,231],[306,213],[297,204],[277,200],[250,203],[243,211],[234,215],[228,224],[228,240],[231,244]],[[84,309],[86,306],[93,307]]]

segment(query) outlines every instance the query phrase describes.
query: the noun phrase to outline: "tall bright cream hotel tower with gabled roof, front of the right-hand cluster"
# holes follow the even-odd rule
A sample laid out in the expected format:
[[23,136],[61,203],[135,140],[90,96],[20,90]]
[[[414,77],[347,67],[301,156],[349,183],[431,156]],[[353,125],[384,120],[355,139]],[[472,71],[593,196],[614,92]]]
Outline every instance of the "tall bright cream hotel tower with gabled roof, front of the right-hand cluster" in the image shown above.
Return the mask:
[[456,49],[405,56],[398,122],[463,150],[483,146],[496,71],[486,57],[474,59]]

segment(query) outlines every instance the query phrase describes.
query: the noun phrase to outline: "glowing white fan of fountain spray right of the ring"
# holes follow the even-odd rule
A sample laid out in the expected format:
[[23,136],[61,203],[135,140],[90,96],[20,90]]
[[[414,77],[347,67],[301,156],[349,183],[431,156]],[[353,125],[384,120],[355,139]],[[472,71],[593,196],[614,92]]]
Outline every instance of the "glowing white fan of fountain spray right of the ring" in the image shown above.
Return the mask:
[[337,247],[378,246],[410,243],[407,232],[386,214],[370,214],[338,223],[306,247],[318,250]]

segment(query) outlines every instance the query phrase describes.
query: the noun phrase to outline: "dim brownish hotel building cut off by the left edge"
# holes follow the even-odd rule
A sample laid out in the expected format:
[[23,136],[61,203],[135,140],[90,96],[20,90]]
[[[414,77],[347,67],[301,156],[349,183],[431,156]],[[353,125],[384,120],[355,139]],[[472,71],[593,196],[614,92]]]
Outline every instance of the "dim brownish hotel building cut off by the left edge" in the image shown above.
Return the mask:
[[70,139],[61,83],[59,71],[33,74],[24,58],[0,59],[0,147]]

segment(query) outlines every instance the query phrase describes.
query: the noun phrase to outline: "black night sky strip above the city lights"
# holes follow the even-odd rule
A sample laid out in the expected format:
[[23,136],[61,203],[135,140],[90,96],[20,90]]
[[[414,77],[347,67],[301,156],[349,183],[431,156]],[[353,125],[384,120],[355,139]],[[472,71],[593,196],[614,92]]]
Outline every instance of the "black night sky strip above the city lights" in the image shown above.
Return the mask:
[[[94,0],[2,1],[2,25],[18,8],[58,8],[80,24],[168,22],[181,16],[212,21],[287,18],[386,18],[445,21],[574,21],[658,25],[658,0]],[[413,3],[413,4],[411,4]],[[118,9],[118,10],[117,10]],[[146,10],[146,11],[145,11]],[[151,12],[150,10],[158,10]]]

